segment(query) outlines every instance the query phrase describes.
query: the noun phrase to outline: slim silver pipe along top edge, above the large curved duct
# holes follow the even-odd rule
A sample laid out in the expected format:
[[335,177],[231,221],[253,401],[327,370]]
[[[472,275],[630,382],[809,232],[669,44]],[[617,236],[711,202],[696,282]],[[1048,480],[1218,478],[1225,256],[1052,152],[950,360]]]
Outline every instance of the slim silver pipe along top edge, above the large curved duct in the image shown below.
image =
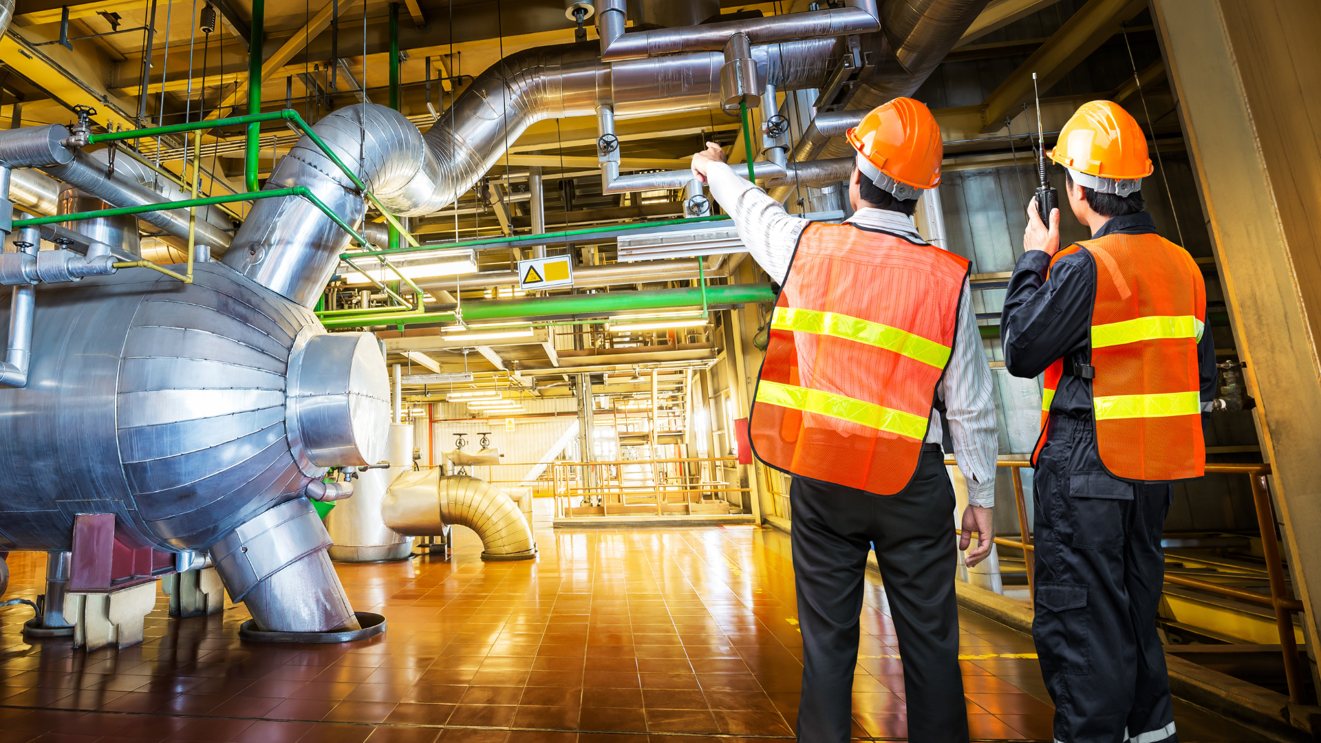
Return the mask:
[[[624,20],[620,0],[606,0],[609,16]],[[602,16],[604,20],[604,16]],[[612,22],[614,22],[612,20]],[[622,24],[621,24],[622,25]],[[724,21],[695,26],[662,28],[634,33],[620,33],[613,38],[601,34],[601,59],[618,62],[686,52],[719,52],[731,37],[742,34],[752,44],[775,44],[806,38],[824,38],[880,30],[881,24],[872,0],[855,0],[844,8],[787,13],[765,19]],[[612,28],[612,33],[613,33]],[[622,30],[622,28],[620,29]]]

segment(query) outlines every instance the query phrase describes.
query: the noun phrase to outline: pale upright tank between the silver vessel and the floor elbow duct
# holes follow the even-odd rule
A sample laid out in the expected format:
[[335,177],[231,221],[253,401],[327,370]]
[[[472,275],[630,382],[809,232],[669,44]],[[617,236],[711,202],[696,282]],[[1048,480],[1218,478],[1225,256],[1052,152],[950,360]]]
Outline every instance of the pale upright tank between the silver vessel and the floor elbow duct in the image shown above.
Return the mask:
[[386,448],[388,469],[369,469],[358,476],[353,497],[338,501],[326,514],[326,531],[334,545],[330,559],[336,562],[380,562],[404,559],[412,551],[412,537],[391,530],[380,518],[380,501],[386,489],[402,472],[412,469],[413,427],[391,423]]

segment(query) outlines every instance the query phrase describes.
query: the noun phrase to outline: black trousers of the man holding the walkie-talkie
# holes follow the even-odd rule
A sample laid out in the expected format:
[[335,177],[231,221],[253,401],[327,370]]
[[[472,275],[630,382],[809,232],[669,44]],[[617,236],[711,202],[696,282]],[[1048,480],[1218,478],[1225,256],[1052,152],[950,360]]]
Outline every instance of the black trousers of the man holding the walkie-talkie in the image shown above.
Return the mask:
[[1052,419],[1037,460],[1036,619],[1058,743],[1169,743],[1174,713],[1156,632],[1169,484],[1100,464],[1090,420]]

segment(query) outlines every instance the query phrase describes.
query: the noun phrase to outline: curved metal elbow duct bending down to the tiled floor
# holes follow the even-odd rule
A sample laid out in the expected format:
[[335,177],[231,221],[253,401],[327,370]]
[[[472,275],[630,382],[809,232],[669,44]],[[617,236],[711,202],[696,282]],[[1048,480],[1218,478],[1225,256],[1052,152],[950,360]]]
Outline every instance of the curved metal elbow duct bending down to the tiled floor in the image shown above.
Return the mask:
[[532,528],[509,493],[468,475],[443,476],[439,468],[404,472],[390,487],[380,514],[386,526],[410,537],[443,534],[466,526],[482,541],[482,559],[536,557]]

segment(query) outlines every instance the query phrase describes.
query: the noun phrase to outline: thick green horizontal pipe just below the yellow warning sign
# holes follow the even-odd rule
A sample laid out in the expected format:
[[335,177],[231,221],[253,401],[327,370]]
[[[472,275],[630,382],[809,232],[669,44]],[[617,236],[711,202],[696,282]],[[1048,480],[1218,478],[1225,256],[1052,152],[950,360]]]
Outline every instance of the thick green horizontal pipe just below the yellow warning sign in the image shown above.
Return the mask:
[[[671,309],[676,307],[701,307],[701,287],[679,290],[645,290],[630,292],[602,292],[552,295],[530,299],[494,299],[469,301],[462,305],[465,323],[474,320],[501,320],[506,317],[547,317],[560,315],[609,315],[634,309]],[[752,304],[775,301],[770,284],[729,284],[707,287],[709,304]],[[357,328],[362,325],[415,325],[419,323],[441,323],[454,316],[453,311],[428,312],[425,315],[386,315],[371,317],[336,317],[324,320],[326,328]]]

